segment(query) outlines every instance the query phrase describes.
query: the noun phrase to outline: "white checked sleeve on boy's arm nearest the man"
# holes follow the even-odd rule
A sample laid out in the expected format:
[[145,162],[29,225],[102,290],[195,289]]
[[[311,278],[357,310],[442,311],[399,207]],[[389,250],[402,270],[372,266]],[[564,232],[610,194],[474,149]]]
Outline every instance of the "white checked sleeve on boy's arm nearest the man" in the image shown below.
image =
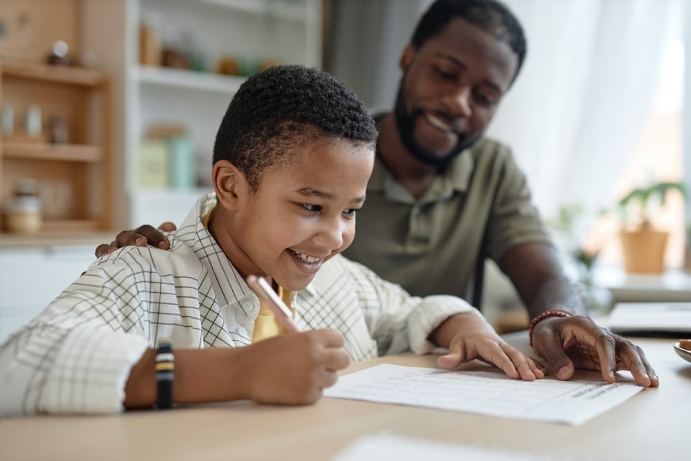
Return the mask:
[[417,354],[430,352],[436,345],[428,340],[429,335],[448,317],[464,312],[482,317],[463,299],[448,295],[413,297],[400,285],[384,281],[364,265],[342,260],[358,292],[379,355],[409,350]]

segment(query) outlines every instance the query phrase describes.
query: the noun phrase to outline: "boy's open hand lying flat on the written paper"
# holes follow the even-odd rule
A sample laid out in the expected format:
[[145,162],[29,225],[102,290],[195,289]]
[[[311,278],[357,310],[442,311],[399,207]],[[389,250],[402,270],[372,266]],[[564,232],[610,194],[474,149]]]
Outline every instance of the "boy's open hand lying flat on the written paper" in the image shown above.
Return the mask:
[[[435,337],[437,344],[448,347],[448,354],[437,360],[440,368],[451,370],[466,361],[484,359],[511,378],[534,381],[545,377],[545,372],[533,359],[509,346],[486,320],[475,314],[451,317],[437,328]],[[448,337],[451,340],[444,341]]]

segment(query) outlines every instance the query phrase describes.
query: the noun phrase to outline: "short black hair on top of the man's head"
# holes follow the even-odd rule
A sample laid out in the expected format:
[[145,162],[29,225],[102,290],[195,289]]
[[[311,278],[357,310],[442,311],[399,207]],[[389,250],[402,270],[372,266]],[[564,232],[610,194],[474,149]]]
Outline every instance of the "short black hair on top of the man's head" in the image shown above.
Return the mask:
[[437,0],[422,15],[410,44],[419,49],[424,43],[439,35],[452,19],[461,18],[473,26],[509,45],[516,57],[520,70],[527,51],[523,28],[511,10],[497,0]]

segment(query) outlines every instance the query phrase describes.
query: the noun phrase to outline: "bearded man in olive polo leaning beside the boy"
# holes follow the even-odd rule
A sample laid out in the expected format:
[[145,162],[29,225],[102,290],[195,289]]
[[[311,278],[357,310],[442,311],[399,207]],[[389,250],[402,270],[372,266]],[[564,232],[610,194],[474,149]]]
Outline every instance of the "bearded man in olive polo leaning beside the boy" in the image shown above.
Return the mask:
[[[466,298],[489,256],[527,306],[533,348],[550,373],[570,379],[574,367],[587,368],[614,382],[615,370],[631,370],[639,384],[656,386],[640,348],[585,315],[511,151],[482,136],[525,53],[520,23],[496,0],[430,6],[401,55],[393,111],[375,115],[367,206],[344,254],[411,294]],[[140,234],[160,241],[140,228],[117,245]]]

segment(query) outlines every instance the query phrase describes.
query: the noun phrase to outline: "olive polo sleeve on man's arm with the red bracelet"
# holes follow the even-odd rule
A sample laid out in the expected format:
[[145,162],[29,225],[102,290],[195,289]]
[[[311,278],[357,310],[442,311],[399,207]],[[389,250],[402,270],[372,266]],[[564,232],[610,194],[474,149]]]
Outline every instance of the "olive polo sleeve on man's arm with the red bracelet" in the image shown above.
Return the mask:
[[498,262],[511,248],[527,243],[552,245],[538,209],[533,205],[527,178],[508,147],[495,143],[493,167],[499,175],[487,223],[487,249]]

